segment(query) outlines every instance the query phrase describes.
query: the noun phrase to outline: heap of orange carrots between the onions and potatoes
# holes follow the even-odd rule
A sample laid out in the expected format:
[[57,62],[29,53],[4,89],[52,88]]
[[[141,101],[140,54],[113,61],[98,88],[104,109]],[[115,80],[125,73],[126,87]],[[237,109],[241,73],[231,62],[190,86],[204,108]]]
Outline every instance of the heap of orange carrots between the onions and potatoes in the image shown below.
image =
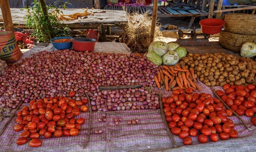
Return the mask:
[[166,91],[186,88],[191,88],[193,91],[201,90],[195,83],[195,73],[191,67],[187,69],[185,66],[180,67],[180,65],[162,65],[154,79],[157,87],[165,87]]

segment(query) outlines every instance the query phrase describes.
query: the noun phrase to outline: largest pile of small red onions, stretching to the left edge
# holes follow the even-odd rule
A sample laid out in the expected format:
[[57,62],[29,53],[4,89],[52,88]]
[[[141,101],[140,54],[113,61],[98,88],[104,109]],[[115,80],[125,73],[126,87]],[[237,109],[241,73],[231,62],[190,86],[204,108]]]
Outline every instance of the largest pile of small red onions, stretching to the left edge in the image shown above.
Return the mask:
[[[42,51],[9,65],[0,76],[0,107],[51,96],[85,98],[85,92],[99,94],[100,86],[144,84],[156,87],[159,71],[146,56],[79,52],[70,49]],[[91,96],[92,97],[92,96]]]

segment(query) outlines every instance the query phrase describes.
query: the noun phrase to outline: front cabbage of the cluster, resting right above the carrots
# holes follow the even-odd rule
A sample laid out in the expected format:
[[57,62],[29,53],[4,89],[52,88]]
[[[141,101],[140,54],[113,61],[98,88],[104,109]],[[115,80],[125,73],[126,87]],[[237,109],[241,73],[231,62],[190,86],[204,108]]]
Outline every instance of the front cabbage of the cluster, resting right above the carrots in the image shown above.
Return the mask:
[[162,59],[164,65],[175,65],[180,60],[180,57],[175,51],[167,51],[166,54],[162,56]]

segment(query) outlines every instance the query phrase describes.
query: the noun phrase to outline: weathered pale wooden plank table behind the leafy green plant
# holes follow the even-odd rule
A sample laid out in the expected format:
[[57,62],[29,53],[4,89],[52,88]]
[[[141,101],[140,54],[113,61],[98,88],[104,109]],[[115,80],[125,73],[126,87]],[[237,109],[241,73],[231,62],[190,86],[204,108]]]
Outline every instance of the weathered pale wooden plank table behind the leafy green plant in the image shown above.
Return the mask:
[[[74,13],[82,9],[65,9],[64,14]],[[127,12],[122,10],[105,10],[105,9],[88,9],[93,15],[81,17],[81,20],[62,20],[63,26],[68,25],[70,29],[99,29],[103,41],[106,40],[106,32],[111,35],[110,27],[125,27],[127,20]],[[26,20],[24,17],[27,14],[26,9],[11,8],[11,17],[13,27],[27,29]],[[0,12],[0,15],[2,13]],[[0,22],[0,27],[4,27],[3,22]]]

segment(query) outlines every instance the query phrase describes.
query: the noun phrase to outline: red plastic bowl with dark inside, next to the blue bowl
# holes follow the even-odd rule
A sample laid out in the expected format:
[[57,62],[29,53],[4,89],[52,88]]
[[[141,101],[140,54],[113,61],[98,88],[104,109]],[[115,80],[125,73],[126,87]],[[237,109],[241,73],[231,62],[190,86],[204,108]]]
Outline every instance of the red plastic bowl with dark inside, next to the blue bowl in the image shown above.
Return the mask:
[[72,38],[73,48],[76,51],[93,51],[97,40],[93,38]]

